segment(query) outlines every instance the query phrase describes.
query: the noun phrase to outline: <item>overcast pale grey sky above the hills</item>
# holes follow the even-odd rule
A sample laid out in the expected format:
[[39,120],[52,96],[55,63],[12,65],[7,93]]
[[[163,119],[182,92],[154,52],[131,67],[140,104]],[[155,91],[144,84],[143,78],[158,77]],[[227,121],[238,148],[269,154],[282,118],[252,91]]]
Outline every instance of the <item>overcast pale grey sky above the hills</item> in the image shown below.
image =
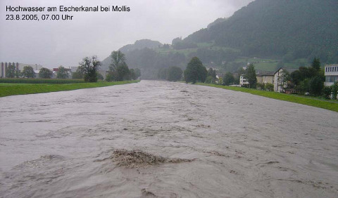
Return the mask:
[[[0,62],[77,66],[85,56],[104,60],[111,51],[139,39],[171,44],[176,37],[230,17],[253,0],[1,0]],[[6,12],[6,6],[128,6],[129,12]],[[6,15],[37,14],[36,20],[6,20]],[[42,20],[43,14],[73,15],[73,20]]]

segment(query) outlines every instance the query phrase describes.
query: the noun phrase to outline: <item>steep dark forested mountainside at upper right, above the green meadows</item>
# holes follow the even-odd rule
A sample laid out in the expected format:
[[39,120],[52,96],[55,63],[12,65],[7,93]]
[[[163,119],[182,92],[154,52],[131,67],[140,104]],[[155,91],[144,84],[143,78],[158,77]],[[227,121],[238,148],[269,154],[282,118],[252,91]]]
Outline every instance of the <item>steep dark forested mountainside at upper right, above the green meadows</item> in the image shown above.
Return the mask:
[[184,41],[215,41],[243,55],[338,62],[337,0],[256,0]]

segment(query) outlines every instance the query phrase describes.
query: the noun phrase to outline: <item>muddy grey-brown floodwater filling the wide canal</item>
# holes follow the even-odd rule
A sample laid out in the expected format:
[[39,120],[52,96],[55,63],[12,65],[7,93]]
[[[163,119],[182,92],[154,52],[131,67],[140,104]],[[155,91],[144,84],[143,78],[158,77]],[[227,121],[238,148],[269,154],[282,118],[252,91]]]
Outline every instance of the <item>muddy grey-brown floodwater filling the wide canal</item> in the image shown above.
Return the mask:
[[0,98],[1,197],[338,197],[338,113],[206,86]]

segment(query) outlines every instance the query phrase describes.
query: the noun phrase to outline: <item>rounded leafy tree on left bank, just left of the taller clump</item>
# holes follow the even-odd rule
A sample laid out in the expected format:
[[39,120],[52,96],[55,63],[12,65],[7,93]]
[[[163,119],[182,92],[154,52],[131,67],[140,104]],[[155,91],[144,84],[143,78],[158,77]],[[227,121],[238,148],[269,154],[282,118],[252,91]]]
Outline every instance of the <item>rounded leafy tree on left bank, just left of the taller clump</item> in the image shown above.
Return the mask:
[[101,62],[97,59],[96,55],[92,57],[85,57],[80,62],[80,70],[83,70],[84,81],[86,82],[96,82],[97,75],[96,71],[99,70]]

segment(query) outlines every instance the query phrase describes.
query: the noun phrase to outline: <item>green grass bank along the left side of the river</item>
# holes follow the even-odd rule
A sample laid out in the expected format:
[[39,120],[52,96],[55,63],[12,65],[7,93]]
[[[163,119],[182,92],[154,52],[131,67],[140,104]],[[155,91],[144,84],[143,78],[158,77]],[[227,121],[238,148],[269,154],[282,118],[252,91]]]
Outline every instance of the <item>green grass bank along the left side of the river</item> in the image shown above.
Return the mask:
[[102,86],[113,86],[119,84],[137,83],[139,81],[118,81],[96,83],[73,83],[73,84],[0,84],[0,97],[8,95],[24,95],[32,93],[48,93],[55,91],[70,91],[80,88],[95,88]]

